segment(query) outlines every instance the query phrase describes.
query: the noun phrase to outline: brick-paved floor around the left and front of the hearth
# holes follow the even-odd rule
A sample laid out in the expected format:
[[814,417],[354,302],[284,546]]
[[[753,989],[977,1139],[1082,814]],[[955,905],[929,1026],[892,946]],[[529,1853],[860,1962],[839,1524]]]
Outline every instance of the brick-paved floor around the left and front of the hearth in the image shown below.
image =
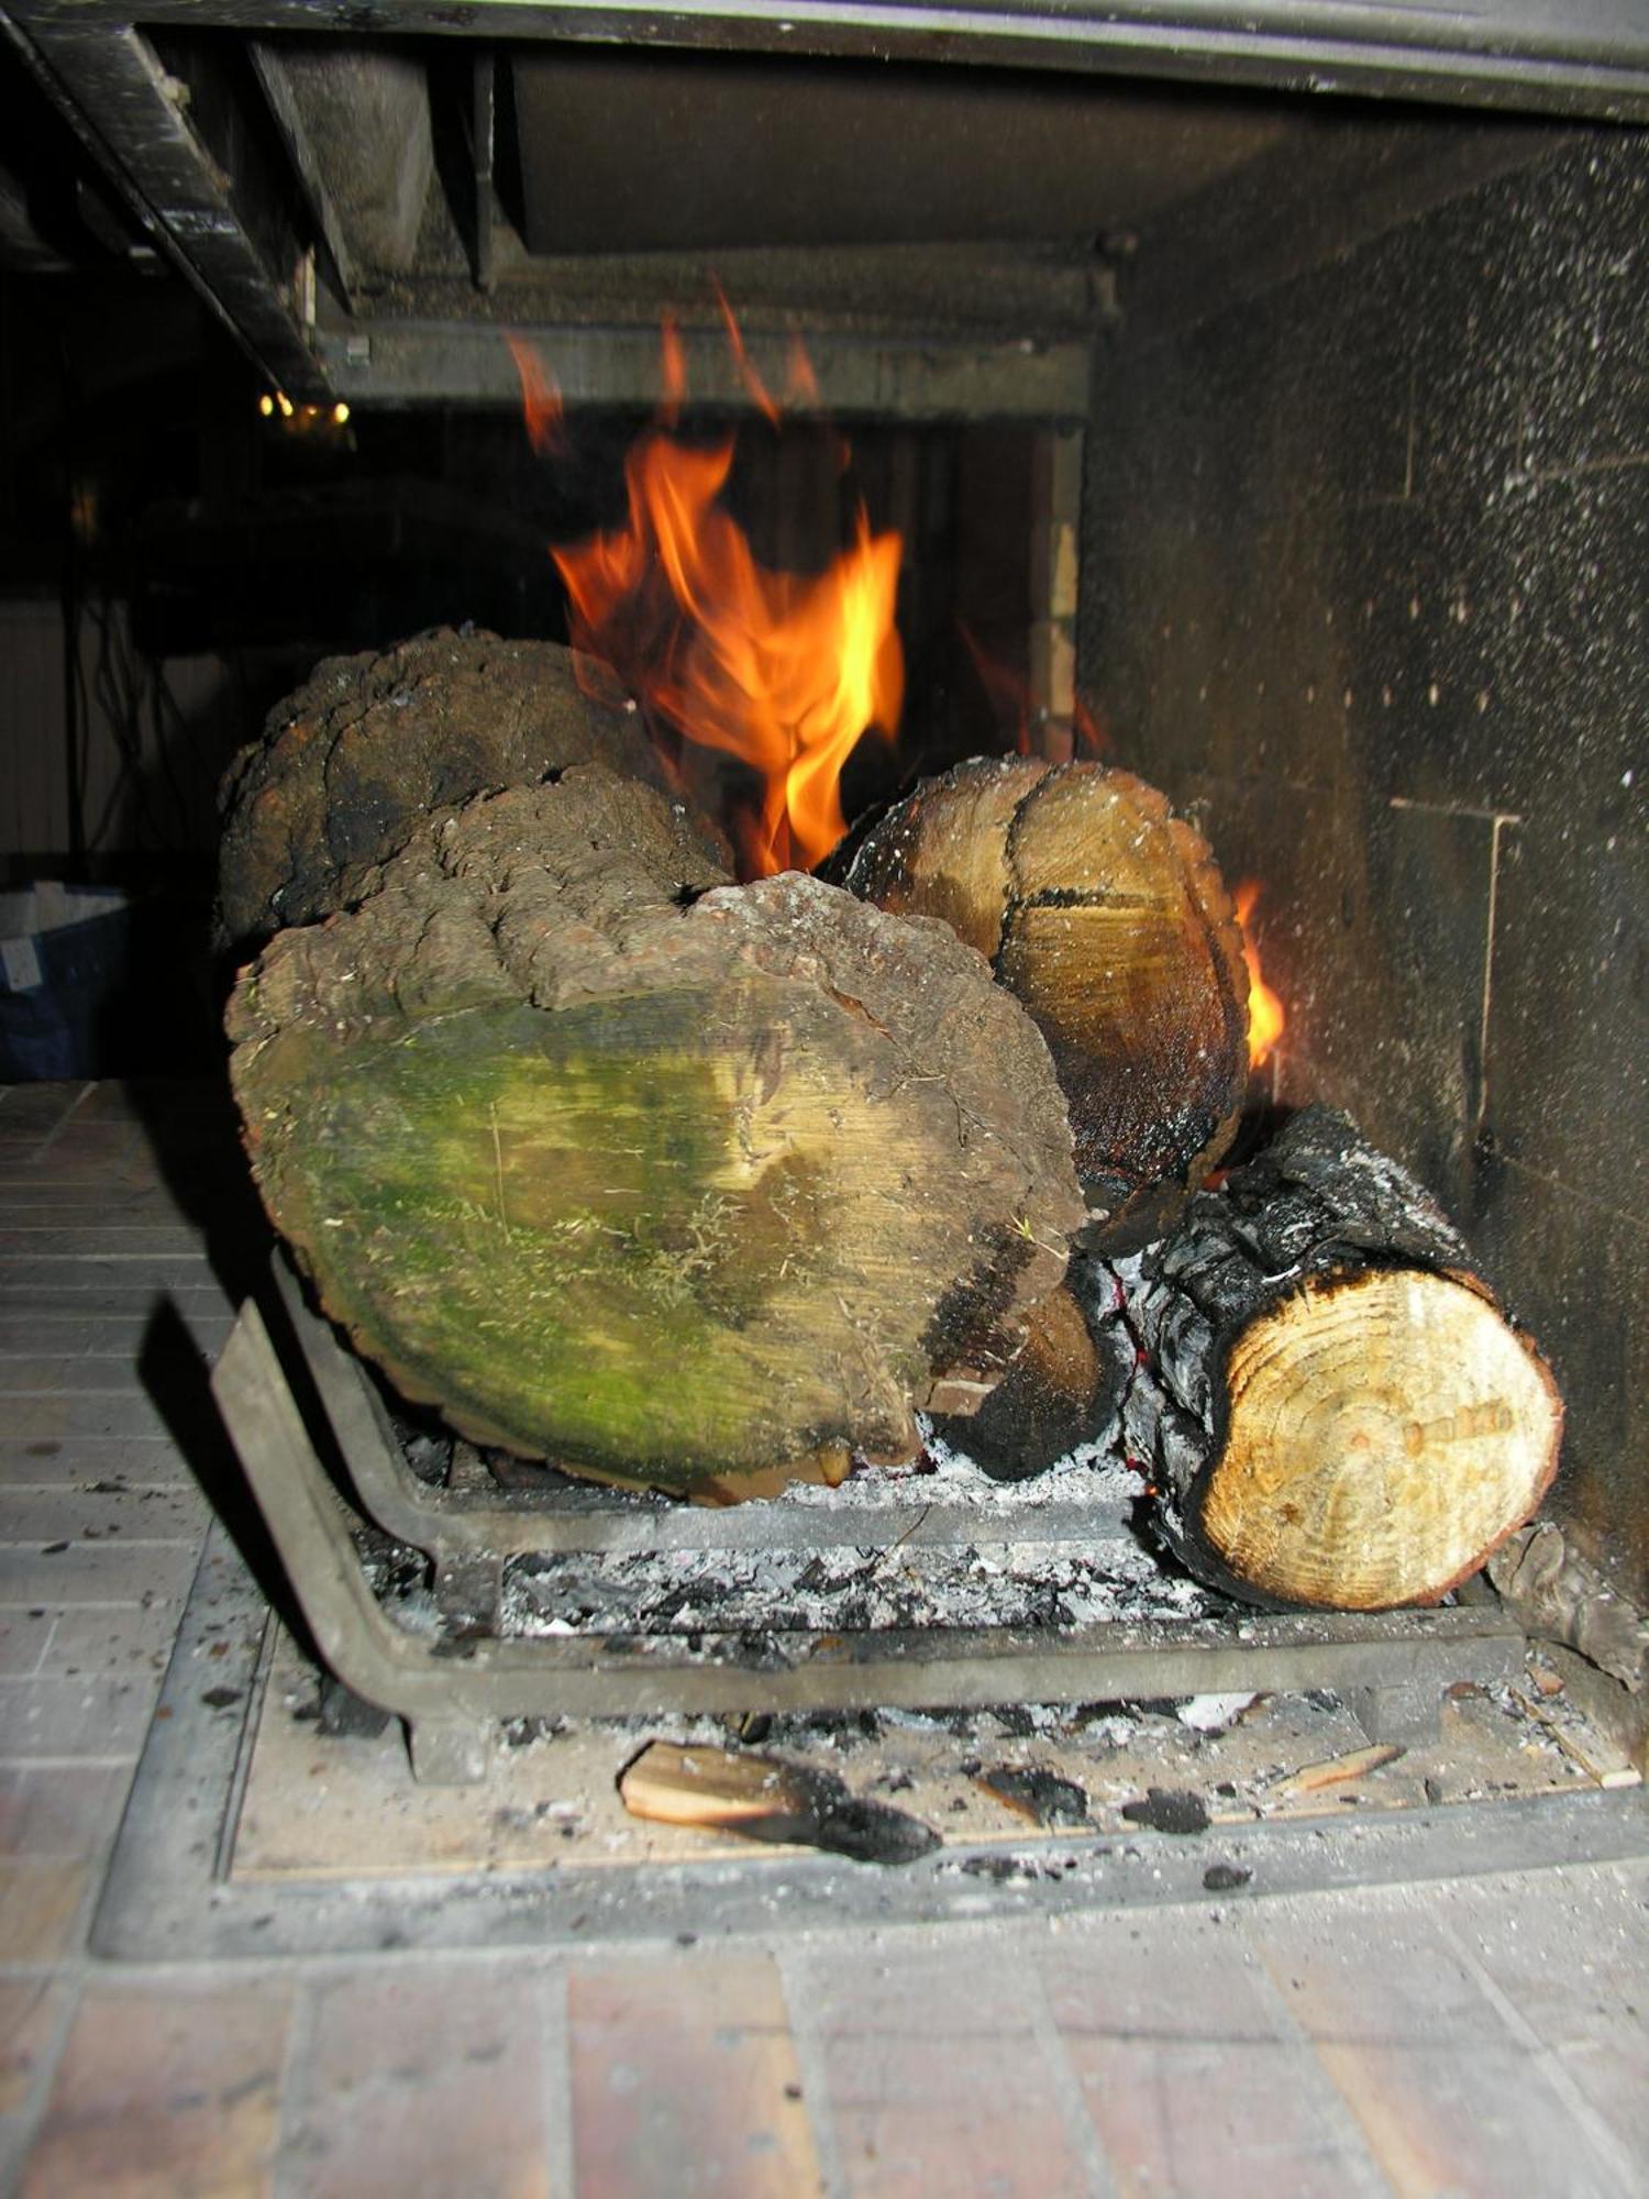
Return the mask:
[[1649,2190],[1649,1865],[600,1959],[95,1962],[207,1517],[147,1390],[156,1308],[187,1352],[226,1333],[180,1229],[121,1093],[0,1091],[0,2190]]

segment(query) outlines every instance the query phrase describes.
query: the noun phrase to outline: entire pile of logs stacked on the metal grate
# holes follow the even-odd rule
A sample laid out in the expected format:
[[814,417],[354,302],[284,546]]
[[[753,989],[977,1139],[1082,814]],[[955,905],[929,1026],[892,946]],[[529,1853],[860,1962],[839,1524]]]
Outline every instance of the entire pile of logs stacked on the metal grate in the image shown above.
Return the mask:
[[1117,1423],[1167,1544],[1273,1607],[1431,1601],[1530,1517],[1552,1377],[1420,1185],[1308,1110],[1203,1187],[1247,970],[1154,789],[961,765],[842,891],[734,886],[651,776],[565,653],[429,636],[231,778],[253,1170],[402,1396],[717,1502],[919,1414],[1003,1476]]

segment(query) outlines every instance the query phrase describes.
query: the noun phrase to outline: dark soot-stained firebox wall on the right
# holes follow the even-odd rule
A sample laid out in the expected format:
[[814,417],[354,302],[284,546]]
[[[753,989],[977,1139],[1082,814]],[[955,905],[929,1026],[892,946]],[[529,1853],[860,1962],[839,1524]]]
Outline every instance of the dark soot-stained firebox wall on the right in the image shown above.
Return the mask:
[[[1141,257],[1150,240],[1141,244]],[[1649,136],[1552,143],[1099,365],[1082,682],[1330,1100],[1469,1227],[1649,1592]]]

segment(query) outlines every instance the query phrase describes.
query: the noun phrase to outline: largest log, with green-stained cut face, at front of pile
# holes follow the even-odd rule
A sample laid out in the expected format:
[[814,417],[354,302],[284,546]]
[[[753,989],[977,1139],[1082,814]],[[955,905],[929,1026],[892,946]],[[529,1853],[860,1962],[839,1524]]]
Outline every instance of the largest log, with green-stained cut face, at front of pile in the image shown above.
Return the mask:
[[1036,1027],[943,926],[730,886],[600,765],[431,820],[229,1012],[321,1302],[464,1434],[693,1495],[917,1449],[1082,1220]]

